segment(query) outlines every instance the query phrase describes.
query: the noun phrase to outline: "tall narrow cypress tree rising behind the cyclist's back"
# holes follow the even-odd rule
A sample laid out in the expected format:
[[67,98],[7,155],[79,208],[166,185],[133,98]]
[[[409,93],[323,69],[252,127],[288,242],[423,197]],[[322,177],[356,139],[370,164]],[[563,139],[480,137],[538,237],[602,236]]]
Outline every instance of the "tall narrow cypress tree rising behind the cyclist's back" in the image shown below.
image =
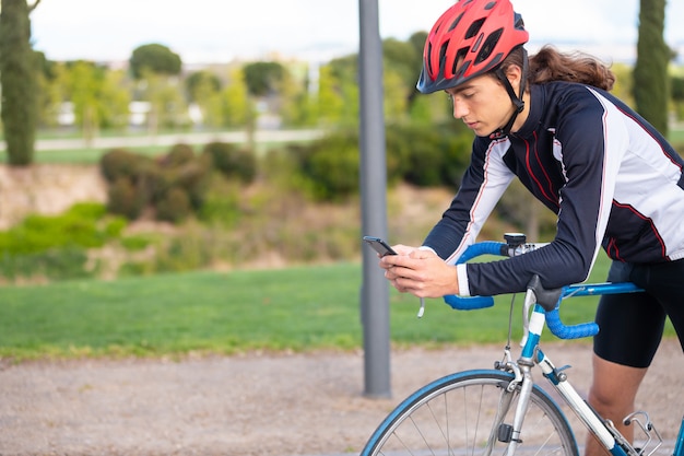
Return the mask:
[[668,62],[672,51],[663,39],[665,0],[640,0],[634,100],[637,112],[668,135]]

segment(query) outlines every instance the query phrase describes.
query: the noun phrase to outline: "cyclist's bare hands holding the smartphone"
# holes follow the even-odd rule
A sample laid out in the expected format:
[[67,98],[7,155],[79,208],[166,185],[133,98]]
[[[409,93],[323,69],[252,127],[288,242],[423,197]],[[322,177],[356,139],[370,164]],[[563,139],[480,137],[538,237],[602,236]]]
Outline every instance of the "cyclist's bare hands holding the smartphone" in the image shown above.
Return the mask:
[[458,294],[456,267],[447,265],[432,250],[405,245],[392,246],[398,255],[380,258],[380,267],[392,287],[418,297]]

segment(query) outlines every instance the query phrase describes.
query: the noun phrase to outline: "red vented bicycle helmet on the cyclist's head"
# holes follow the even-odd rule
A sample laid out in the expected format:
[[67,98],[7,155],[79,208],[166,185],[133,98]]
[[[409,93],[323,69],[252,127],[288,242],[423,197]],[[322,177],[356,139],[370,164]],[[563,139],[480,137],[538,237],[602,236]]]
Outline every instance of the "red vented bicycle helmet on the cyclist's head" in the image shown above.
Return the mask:
[[529,39],[509,0],[460,0],[425,42],[418,91],[432,93],[492,71]]

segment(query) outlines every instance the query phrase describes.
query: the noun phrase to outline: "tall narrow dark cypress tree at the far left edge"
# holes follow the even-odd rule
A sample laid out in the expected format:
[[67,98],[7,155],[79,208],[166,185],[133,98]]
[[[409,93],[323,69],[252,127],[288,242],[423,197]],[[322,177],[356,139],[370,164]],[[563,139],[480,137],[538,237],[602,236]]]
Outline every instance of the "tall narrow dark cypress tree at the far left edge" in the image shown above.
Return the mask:
[[2,128],[9,163],[26,166],[33,162],[38,102],[37,59],[31,47],[28,15],[38,5],[26,0],[0,2],[0,85]]

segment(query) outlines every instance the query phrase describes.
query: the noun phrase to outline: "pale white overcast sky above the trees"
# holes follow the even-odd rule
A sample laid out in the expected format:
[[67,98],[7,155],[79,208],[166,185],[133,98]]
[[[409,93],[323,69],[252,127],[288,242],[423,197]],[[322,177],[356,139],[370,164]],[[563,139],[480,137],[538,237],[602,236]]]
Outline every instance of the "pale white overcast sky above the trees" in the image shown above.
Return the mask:
[[[362,0],[373,1],[373,0]],[[382,38],[428,31],[453,0],[377,0]],[[30,1],[31,2],[31,1]],[[555,44],[628,61],[639,0],[512,0],[529,49]],[[367,4],[367,3],[364,3]],[[358,0],[42,0],[31,15],[34,48],[50,60],[126,61],[138,46],[168,46],[184,63],[327,60],[358,49]],[[665,42],[684,61],[684,0],[668,0]]]

